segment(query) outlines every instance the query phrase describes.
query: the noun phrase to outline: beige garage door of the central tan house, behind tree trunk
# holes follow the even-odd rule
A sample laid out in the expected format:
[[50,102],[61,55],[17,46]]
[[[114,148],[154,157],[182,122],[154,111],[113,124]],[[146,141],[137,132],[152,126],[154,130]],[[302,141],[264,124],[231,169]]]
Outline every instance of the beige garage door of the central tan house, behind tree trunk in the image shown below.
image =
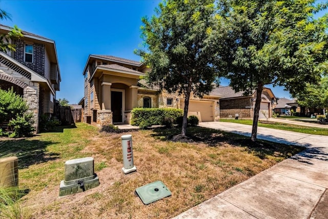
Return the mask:
[[[180,102],[180,109],[185,108],[185,101]],[[188,116],[196,115],[199,122],[212,122],[213,116],[213,102],[209,101],[189,101]]]

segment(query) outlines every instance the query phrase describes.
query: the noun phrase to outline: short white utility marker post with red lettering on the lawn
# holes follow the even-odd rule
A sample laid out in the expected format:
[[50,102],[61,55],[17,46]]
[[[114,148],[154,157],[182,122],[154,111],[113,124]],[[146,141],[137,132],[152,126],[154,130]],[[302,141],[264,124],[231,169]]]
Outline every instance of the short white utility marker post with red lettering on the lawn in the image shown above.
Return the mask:
[[124,165],[122,171],[124,172],[124,174],[135,172],[137,171],[137,168],[133,164],[132,135],[122,135],[121,139]]

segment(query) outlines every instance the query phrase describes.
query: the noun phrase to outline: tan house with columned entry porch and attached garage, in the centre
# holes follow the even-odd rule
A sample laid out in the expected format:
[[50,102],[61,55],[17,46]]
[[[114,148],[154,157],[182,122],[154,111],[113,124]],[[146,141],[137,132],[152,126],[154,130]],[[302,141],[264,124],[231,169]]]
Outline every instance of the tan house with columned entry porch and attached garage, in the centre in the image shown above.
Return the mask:
[[[180,108],[184,99],[142,85],[140,76],[149,70],[144,64],[110,55],[89,55],[84,68],[85,93],[80,105],[84,122],[100,126],[130,123],[131,110],[144,108]],[[190,99],[189,115],[202,122],[219,120],[219,94]]]

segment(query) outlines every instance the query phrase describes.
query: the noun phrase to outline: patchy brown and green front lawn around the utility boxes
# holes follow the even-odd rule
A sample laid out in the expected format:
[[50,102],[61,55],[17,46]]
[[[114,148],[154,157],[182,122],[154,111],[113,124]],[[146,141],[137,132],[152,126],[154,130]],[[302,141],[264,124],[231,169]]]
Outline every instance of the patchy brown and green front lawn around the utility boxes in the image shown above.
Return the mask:
[[[189,143],[172,142],[179,129],[105,133],[90,125],[61,127],[19,140],[2,139],[0,154],[19,156],[19,187],[34,218],[170,218],[281,162],[303,148],[191,127]],[[121,172],[122,134],[132,134],[137,172]],[[59,197],[64,163],[92,156],[100,185]],[[135,189],[162,181],[171,197],[142,204]]]

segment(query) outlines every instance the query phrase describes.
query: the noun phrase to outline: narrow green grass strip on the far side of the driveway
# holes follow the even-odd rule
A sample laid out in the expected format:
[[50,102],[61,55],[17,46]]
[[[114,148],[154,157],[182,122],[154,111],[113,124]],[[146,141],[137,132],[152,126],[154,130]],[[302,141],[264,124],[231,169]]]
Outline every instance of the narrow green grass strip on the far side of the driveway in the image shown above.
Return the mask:
[[[227,119],[220,119],[220,122],[228,122],[228,123],[239,123],[245,125],[253,125],[252,120],[227,120]],[[287,123],[261,123],[258,122],[259,127],[271,128],[271,129],[280,129],[285,131],[293,131],[293,132],[300,132],[306,134],[319,134],[319,135],[328,135],[328,126],[327,128],[317,128],[317,127],[308,127],[308,126],[297,126]]]

